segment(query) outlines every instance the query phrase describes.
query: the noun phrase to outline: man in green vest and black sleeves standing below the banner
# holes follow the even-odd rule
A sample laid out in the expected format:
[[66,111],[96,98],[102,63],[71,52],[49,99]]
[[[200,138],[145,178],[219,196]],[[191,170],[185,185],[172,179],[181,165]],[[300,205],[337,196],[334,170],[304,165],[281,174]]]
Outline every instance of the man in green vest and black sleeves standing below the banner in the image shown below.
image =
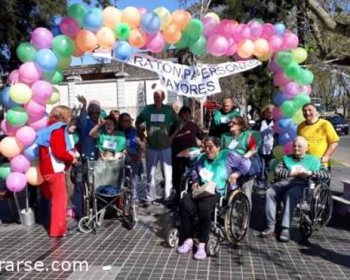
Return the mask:
[[209,136],[221,138],[222,134],[230,132],[230,121],[233,117],[239,115],[239,108],[233,106],[232,99],[225,99],[223,101],[223,107],[214,112],[209,128]]

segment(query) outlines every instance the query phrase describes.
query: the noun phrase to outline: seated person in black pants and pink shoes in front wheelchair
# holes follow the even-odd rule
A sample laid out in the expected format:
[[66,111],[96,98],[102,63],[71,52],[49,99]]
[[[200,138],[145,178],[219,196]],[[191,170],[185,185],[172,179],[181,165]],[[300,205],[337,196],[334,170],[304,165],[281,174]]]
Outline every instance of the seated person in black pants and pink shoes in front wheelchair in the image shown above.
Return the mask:
[[[211,214],[215,204],[225,193],[227,181],[235,184],[240,176],[245,175],[251,162],[235,151],[221,151],[220,139],[216,137],[206,137],[204,139],[204,151],[197,160],[195,168],[191,173],[193,180],[192,194],[185,195],[180,202],[181,218],[181,240],[183,244],[179,246],[179,253],[188,253],[193,248],[193,221],[195,213],[199,217],[199,241],[195,259],[200,260],[207,257],[205,244],[209,237]],[[203,188],[214,189],[206,196],[194,196]]]

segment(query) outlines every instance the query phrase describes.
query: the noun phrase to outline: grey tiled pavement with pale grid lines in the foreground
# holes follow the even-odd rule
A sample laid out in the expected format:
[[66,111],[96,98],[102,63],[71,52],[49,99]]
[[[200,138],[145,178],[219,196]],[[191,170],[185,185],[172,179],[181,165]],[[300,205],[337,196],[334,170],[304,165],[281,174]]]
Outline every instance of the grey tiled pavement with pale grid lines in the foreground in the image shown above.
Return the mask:
[[[167,214],[160,205],[140,208],[141,221],[134,230],[108,220],[96,235],[76,232],[49,239],[39,225],[3,224],[0,260],[42,261],[45,267],[43,272],[27,272],[21,265],[19,272],[6,272],[2,263],[0,279],[350,279],[349,216],[314,232],[309,241],[302,240],[294,223],[292,240],[283,244],[258,237],[262,207],[263,194],[254,193],[251,229],[244,241],[239,246],[221,244],[218,256],[201,261],[164,246],[161,222]],[[85,260],[89,269],[54,272],[50,265],[55,260],[69,261],[71,267],[73,261]]]

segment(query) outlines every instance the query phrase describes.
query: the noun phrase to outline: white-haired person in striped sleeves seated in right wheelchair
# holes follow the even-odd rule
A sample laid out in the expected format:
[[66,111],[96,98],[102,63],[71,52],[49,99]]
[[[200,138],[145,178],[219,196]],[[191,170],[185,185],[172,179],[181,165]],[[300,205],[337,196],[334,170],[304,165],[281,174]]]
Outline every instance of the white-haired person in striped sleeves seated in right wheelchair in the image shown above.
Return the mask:
[[302,197],[304,188],[309,186],[309,178],[327,180],[330,177],[319,158],[309,155],[307,141],[304,137],[296,137],[293,142],[293,155],[284,155],[279,165],[274,170],[275,178],[280,181],[267,189],[265,216],[267,228],[261,232],[261,237],[274,235],[276,225],[276,205],[283,200],[284,211],[282,230],[279,240],[289,241],[289,228],[292,221],[297,201]]

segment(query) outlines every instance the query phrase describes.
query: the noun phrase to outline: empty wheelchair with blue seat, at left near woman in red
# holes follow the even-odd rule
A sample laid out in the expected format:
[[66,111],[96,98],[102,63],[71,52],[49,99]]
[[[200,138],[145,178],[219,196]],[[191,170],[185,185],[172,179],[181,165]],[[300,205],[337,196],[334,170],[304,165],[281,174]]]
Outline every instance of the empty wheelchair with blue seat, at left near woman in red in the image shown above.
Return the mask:
[[102,226],[107,209],[116,211],[127,228],[135,228],[138,219],[132,168],[124,164],[124,159],[87,160],[85,164],[85,168],[80,168],[83,174],[78,176],[83,179],[83,216],[78,223],[79,230],[96,232],[97,227]]

